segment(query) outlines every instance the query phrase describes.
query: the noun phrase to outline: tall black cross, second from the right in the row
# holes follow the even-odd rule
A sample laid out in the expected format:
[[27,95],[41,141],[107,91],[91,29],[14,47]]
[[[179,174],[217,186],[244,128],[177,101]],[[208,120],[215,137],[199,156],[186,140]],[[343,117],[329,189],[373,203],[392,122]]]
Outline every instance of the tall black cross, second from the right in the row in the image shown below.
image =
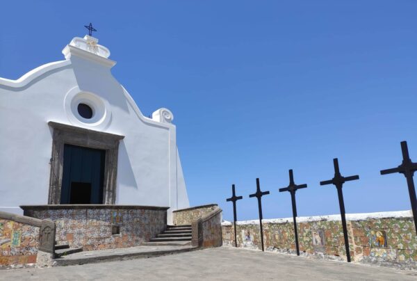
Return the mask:
[[347,227],[346,227],[346,215],[345,215],[345,202],[343,202],[343,191],[342,187],[345,182],[352,181],[354,179],[359,179],[359,175],[354,175],[350,177],[343,177],[338,168],[337,158],[333,159],[334,165],[334,177],[333,179],[320,182],[320,186],[326,184],[334,184],[337,188],[337,195],[339,200],[339,207],[341,208],[341,217],[342,217],[342,226],[343,226],[343,237],[345,238],[345,248],[346,248],[346,258],[347,262],[350,262],[350,251],[349,251],[349,238],[347,236]]

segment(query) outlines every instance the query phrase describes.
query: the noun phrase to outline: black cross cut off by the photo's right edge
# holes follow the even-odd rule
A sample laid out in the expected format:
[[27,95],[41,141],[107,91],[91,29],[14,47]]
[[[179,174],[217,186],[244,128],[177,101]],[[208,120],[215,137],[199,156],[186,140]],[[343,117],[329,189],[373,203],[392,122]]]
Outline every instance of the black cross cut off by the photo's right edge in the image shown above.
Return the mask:
[[381,175],[392,174],[393,172],[400,172],[407,179],[407,186],[409,188],[409,195],[411,201],[411,209],[414,217],[414,227],[417,234],[417,198],[416,189],[414,188],[414,172],[417,170],[417,163],[413,163],[410,159],[407,141],[401,142],[402,163],[397,168],[382,170]]

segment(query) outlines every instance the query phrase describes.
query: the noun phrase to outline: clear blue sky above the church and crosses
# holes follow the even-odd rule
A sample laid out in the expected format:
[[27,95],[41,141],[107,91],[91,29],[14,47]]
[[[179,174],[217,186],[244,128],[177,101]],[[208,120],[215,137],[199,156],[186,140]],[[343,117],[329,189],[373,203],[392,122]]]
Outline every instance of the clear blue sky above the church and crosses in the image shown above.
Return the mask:
[[3,1],[0,77],[60,61],[84,24],[117,61],[142,113],[174,113],[190,204],[232,219],[338,214],[334,157],[348,213],[411,209],[400,141],[417,161],[417,1]]

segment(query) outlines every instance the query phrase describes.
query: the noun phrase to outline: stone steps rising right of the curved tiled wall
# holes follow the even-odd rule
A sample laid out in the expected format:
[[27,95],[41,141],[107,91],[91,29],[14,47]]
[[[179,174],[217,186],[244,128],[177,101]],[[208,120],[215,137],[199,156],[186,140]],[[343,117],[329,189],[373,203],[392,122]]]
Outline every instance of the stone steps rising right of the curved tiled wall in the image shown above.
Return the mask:
[[167,225],[167,230],[156,235],[146,246],[188,246],[192,238],[191,225]]

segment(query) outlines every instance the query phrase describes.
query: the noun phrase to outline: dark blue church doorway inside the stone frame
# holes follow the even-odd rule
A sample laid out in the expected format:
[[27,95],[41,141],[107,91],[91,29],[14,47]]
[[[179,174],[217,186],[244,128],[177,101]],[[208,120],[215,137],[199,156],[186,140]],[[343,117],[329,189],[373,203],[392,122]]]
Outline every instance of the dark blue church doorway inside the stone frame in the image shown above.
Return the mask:
[[64,145],[60,204],[103,204],[105,150]]

